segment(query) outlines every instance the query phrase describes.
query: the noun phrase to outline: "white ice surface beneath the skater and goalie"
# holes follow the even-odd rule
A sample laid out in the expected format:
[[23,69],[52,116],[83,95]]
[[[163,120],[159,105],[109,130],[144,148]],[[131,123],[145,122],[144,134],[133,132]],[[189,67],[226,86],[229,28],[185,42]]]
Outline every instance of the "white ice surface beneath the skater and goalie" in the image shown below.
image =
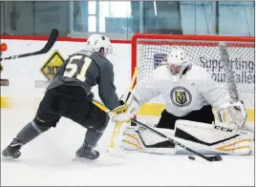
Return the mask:
[[[28,109],[1,109],[1,150],[32,119]],[[85,129],[62,118],[55,129],[40,135],[22,149],[16,160],[1,158],[2,186],[31,185],[145,185],[145,186],[254,186],[254,156],[223,156],[208,162],[188,155],[160,156],[120,153],[107,156],[114,124],[98,142],[95,161],[74,161]]]

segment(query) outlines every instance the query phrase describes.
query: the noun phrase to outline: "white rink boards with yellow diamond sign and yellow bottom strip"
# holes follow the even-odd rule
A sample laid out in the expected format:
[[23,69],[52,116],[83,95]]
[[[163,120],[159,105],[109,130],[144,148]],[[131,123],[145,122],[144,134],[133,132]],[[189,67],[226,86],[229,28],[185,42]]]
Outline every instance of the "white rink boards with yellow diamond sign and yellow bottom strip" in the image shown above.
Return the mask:
[[[33,52],[41,49],[46,41],[2,39],[8,44],[8,51],[3,56],[19,54],[23,52]],[[3,61],[2,79],[9,80],[9,86],[1,86],[1,108],[31,108],[36,110],[40,99],[44,95],[45,88],[53,78],[53,74],[70,53],[83,49],[84,41],[57,41],[53,49],[47,54],[32,57]],[[16,47],[19,46],[17,49]],[[131,44],[126,42],[114,42],[115,55],[112,57],[114,62],[115,83],[117,94],[126,92],[131,77]],[[203,55],[202,55],[203,56]],[[206,61],[202,59],[203,63]],[[250,67],[249,71],[253,70]],[[211,67],[214,68],[214,67]],[[220,67],[216,67],[220,68]],[[243,70],[246,72],[246,70]],[[250,72],[251,73],[251,72]],[[240,83],[244,84],[244,83]],[[255,83],[245,83],[246,87],[254,88]],[[97,93],[97,90],[94,89]],[[248,122],[254,122],[254,97],[255,94],[247,94],[250,98],[250,107],[246,109]],[[164,106],[160,103],[145,104],[141,106],[139,115],[160,116]]]

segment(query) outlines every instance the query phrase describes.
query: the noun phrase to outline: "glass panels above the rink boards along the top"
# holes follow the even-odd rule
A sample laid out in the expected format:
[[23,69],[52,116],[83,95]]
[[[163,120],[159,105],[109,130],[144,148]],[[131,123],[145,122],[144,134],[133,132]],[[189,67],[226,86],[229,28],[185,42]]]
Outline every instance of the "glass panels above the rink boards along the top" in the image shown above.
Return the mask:
[[254,1],[1,1],[1,34],[130,39],[136,32],[254,36]]

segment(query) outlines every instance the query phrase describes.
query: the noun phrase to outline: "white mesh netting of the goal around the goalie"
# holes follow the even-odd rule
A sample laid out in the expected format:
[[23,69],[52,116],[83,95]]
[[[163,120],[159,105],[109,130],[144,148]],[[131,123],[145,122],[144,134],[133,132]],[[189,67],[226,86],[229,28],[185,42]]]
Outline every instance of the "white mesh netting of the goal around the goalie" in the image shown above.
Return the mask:
[[[239,96],[245,102],[246,109],[254,110],[254,42],[241,42],[239,37],[237,40],[224,42],[228,47],[229,59]],[[139,70],[138,82],[148,76],[168,52],[171,52],[173,48],[179,47],[187,53],[192,64],[203,66],[216,81],[225,84],[224,69],[218,48],[219,41],[166,39],[166,36],[161,39],[159,35],[154,39],[138,37],[134,42],[136,42],[137,49],[136,64],[134,66]],[[133,48],[135,47],[133,46]],[[149,103],[164,104],[161,96],[152,99]],[[145,123],[157,124],[160,116],[138,115],[138,119]]]

